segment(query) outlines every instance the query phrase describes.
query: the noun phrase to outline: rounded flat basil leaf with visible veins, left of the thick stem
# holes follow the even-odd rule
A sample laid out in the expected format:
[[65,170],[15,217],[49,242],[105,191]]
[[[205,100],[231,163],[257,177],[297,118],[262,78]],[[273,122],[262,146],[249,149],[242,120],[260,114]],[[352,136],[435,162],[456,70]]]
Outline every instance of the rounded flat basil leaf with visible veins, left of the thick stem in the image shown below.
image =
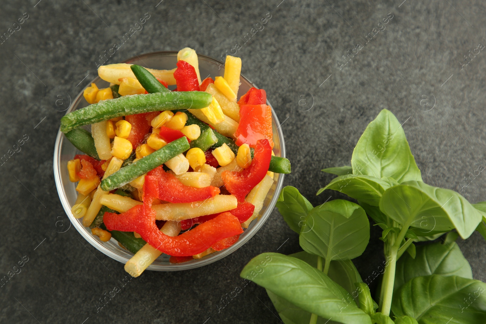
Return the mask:
[[369,222],[364,209],[336,199],[313,208],[300,230],[304,251],[326,260],[361,256],[369,241]]

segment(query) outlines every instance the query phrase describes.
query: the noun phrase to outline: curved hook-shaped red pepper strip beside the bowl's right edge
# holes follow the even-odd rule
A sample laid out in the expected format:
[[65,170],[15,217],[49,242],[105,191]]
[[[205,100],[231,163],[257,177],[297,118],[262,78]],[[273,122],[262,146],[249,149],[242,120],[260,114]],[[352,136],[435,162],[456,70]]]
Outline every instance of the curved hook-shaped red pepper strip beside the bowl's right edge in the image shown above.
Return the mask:
[[224,171],[221,178],[226,189],[236,196],[238,202],[243,202],[245,196],[265,177],[272,158],[272,147],[267,139],[259,139],[255,148],[255,155],[251,165],[235,174],[232,171]]

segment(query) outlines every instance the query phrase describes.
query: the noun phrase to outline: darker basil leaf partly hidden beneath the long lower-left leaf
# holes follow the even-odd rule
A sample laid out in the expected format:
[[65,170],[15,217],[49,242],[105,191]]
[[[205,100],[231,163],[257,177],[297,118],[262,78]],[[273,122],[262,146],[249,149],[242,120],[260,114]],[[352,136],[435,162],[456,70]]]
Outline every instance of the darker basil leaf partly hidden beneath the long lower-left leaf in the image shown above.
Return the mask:
[[[268,297],[277,309],[278,315],[284,324],[309,324],[311,321],[311,313],[296,307],[294,304],[278,297],[272,291],[267,289]],[[339,324],[334,321],[327,320],[322,317],[317,317],[317,324]]]

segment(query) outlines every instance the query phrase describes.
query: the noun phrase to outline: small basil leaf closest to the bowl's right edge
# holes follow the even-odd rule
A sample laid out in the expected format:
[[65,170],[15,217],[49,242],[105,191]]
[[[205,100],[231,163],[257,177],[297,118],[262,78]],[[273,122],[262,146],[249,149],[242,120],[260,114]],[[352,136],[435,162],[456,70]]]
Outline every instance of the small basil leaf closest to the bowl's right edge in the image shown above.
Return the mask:
[[300,232],[300,226],[312,209],[311,203],[300,194],[297,188],[291,186],[282,189],[276,206],[284,221],[296,233]]

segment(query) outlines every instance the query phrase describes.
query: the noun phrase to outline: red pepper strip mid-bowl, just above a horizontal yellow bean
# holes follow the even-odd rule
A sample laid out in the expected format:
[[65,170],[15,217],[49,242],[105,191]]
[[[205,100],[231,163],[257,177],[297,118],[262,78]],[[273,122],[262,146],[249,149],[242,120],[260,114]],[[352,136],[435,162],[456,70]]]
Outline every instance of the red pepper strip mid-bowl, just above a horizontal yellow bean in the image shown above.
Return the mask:
[[158,196],[160,200],[170,203],[200,202],[220,193],[219,188],[208,186],[194,188],[182,184],[172,173],[165,172],[162,166],[158,166],[147,173],[145,182],[156,180],[158,183]]

